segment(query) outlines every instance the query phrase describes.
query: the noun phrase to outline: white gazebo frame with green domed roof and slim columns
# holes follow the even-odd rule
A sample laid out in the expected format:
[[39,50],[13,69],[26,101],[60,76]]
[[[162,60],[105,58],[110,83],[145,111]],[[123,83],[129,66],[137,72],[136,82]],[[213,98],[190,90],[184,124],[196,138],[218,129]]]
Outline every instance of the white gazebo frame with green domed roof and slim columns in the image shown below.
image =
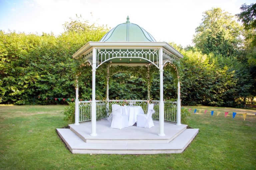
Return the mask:
[[[88,42],[81,47],[73,58],[82,58],[92,66],[92,101],[91,101],[91,136],[96,136],[96,100],[95,75],[97,68],[108,63],[109,66],[149,66],[155,65],[160,72],[160,102],[159,102],[159,136],[164,133],[164,100],[163,100],[163,71],[164,65],[183,58],[183,55],[167,42],[156,42],[155,39],[140,26],[130,23],[119,24],[110,30],[99,42]],[[180,82],[178,78],[177,91],[177,124],[181,125]],[[107,82],[107,101],[108,82]],[[78,82],[76,85],[75,125],[79,125]]]

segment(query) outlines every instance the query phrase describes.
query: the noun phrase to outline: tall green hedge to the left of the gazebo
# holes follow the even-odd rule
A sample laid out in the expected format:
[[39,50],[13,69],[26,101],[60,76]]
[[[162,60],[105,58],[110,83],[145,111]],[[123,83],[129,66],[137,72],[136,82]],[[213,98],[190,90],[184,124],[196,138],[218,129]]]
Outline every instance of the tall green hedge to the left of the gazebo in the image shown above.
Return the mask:
[[[99,41],[107,29],[79,20],[64,25],[66,31],[57,37],[0,30],[0,102],[32,104],[34,96],[75,98],[74,80],[79,63],[72,54],[88,41]],[[86,31],[74,30],[80,26]],[[81,88],[82,94],[88,94],[90,87],[85,84]],[[90,95],[82,97],[90,99]]]

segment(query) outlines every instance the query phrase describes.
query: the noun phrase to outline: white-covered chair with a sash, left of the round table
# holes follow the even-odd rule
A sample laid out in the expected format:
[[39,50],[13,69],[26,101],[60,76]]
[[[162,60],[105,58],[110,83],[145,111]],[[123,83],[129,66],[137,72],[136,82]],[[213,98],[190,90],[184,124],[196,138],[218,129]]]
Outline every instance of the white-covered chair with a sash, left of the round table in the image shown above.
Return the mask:
[[120,105],[112,105],[112,113],[108,117],[108,121],[111,123],[110,128],[122,129],[128,127],[128,116],[122,115],[122,109]]

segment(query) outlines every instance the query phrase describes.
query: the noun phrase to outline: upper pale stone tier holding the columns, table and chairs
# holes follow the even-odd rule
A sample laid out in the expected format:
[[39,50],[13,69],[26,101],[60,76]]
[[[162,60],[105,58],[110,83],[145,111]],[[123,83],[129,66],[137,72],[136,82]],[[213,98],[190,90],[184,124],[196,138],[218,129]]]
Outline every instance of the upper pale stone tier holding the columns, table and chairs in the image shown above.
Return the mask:
[[152,128],[131,126],[115,129],[110,128],[108,121],[98,121],[97,136],[90,135],[90,122],[81,123],[78,126],[71,124],[69,127],[86,143],[169,143],[187,128],[187,125],[176,126],[172,123],[165,123],[165,136],[158,136],[159,121],[154,121],[154,124]]

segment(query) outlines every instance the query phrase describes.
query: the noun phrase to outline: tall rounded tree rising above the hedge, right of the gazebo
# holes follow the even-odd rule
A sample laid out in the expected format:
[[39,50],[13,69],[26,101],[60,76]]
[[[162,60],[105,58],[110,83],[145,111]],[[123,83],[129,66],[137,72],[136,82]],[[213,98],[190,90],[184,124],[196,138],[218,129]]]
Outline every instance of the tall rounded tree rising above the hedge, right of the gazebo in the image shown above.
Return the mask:
[[228,12],[212,8],[203,13],[202,23],[196,28],[193,42],[203,53],[232,56],[241,43],[241,26]]

